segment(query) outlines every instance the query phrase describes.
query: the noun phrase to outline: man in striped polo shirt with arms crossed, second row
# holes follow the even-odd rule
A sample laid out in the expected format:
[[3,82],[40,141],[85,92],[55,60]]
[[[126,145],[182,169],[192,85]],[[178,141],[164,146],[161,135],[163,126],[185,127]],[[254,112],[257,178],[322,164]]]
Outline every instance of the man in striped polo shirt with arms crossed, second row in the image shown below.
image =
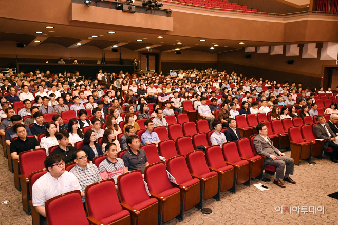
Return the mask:
[[108,143],[105,146],[107,158],[99,165],[100,176],[103,180],[114,178],[115,188],[117,189],[117,178],[126,172],[124,162],[117,158],[117,147],[115,143]]

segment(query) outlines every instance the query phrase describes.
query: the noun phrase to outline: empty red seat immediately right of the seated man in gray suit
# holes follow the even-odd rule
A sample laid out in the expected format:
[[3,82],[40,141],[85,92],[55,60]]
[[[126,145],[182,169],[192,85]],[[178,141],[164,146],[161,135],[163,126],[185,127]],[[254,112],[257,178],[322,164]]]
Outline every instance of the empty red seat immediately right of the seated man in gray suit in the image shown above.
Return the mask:
[[301,159],[311,159],[311,143],[304,141],[301,129],[297,126],[289,128],[290,135],[290,148],[291,148],[291,158],[293,158],[294,163],[299,165],[299,160]]

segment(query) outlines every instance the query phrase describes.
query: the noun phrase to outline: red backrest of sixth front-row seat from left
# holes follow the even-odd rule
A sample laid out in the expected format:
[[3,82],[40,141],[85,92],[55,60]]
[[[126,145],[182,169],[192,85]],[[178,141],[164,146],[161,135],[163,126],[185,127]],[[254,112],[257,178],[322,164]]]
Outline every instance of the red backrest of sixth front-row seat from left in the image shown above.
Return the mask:
[[205,161],[204,153],[201,150],[190,153],[187,156],[187,163],[192,174],[201,176],[210,172]]

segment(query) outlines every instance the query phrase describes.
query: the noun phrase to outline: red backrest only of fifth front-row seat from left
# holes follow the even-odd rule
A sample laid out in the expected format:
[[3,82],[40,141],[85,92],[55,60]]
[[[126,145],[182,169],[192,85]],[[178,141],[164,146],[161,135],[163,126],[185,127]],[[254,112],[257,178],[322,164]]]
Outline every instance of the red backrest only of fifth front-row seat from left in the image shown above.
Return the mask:
[[[186,101],[184,101],[186,102]],[[178,184],[192,180],[185,158],[178,156],[167,161],[168,172],[175,177]]]

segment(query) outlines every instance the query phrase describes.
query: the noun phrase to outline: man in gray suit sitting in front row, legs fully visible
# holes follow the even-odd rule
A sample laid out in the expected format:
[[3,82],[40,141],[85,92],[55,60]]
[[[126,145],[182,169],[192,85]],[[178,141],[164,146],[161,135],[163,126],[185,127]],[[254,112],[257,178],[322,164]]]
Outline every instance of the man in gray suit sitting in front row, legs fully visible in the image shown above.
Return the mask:
[[[256,130],[259,134],[254,138],[253,144],[257,153],[266,157],[264,164],[277,167],[276,178],[273,183],[281,188],[285,188],[285,185],[279,180],[283,178],[284,181],[295,184],[296,182],[289,177],[290,174],[293,174],[293,159],[286,157],[284,153],[273,146],[273,142],[267,136],[268,128],[265,123],[259,123],[256,126]],[[285,165],[286,171],[284,174]]]

